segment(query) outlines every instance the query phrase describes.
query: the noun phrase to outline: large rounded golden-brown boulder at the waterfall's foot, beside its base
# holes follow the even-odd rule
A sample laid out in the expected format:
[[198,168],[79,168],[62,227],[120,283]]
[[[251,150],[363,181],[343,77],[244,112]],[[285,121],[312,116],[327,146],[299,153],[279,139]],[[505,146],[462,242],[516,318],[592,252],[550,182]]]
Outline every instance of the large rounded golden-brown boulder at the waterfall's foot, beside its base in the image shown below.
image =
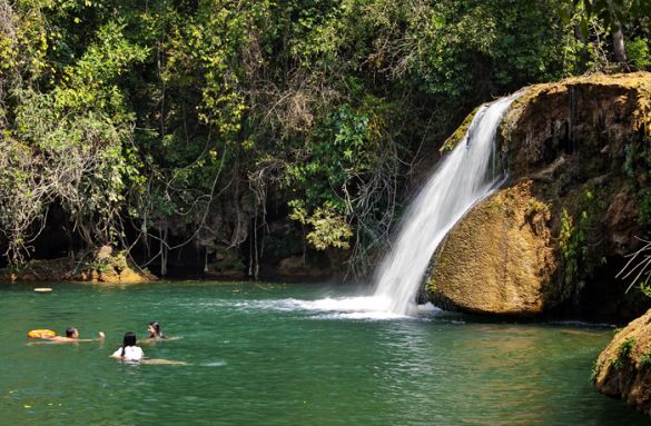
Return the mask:
[[437,306],[480,314],[537,314],[556,271],[549,207],[523,181],[473,208],[438,250],[428,291]]

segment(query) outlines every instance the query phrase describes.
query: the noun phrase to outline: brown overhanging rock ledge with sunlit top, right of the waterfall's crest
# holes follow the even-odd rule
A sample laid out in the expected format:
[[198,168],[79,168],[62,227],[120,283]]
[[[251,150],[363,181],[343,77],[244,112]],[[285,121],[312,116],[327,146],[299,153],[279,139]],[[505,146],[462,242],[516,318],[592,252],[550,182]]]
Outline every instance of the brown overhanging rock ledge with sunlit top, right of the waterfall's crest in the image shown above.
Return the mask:
[[[502,125],[503,148],[516,177],[560,153],[593,150],[623,156],[635,133],[651,136],[651,73],[574,77],[524,89]],[[604,146],[612,148],[603,150]]]

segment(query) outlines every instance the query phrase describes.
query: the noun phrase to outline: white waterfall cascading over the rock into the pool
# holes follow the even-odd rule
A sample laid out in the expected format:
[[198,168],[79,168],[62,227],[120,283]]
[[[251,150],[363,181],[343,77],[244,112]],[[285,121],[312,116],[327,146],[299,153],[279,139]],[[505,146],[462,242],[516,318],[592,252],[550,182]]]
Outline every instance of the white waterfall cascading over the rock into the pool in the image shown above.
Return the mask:
[[[398,227],[397,238],[375,276],[374,298],[391,313],[411,315],[432,256],[473,205],[505,179],[496,167],[495,136],[520,93],[483,105],[463,140],[438,162]],[[463,259],[458,259],[463,261]]]

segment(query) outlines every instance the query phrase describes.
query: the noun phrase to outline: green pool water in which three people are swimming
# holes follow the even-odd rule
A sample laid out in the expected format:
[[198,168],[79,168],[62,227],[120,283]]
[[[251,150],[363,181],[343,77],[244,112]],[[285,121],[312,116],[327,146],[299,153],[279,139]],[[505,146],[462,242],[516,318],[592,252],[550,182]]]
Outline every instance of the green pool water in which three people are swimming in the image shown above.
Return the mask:
[[[589,384],[608,328],[486,324],[422,309],[378,319],[312,304],[343,286],[0,285],[0,419],[8,425],[642,425]],[[125,365],[125,331],[178,339]],[[36,344],[33,328],[103,344]]]

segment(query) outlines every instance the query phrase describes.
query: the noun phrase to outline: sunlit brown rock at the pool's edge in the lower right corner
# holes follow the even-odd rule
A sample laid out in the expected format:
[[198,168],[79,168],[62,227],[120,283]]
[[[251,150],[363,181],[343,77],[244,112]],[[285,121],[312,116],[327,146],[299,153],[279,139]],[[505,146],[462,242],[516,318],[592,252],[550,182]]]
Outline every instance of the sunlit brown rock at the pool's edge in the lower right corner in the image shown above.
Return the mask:
[[592,374],[599,392],[651,415],[651,309],[615,335]]

